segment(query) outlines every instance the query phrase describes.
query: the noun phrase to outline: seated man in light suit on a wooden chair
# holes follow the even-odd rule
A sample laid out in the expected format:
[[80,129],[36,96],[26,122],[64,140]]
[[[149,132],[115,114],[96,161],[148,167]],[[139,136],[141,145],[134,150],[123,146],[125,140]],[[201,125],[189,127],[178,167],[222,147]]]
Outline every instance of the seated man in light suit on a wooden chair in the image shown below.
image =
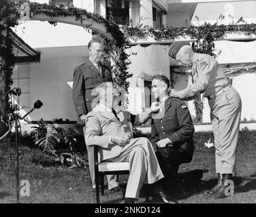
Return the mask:
[[[129,162],[129,180],[125,192],[125,203],[134,203],[139,198],[142,184],[152,184],[155,199],[163,203],[172,203],[163,192],[161,180],[163,174],[157,162],[155,151],[147,138],[133,138],[129,125],[129,115],[124,114],[118,120],[113,109],[117,98],[112,83],[102,83],[97,87],[99,103],[86,115],[85,142],[87,146],[97,144],[99,161]],[[158,110],[154,109],[154,110]],[[121,112],[119,112],[121,113]],[[146,122],[151,111],[135,117],[134,124]]]

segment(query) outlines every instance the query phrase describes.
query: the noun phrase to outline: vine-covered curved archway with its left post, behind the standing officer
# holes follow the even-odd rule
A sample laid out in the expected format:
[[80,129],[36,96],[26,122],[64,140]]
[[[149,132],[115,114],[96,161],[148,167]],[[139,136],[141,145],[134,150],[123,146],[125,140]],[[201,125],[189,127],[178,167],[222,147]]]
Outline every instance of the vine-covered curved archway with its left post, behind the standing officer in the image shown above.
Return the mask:
[[126,81],[131,74],[127,71],[128,55],[125,53],[125,36],[111,20],[106,20],[98,14],[87,12],[76,7],[59,7],[52,3],[14,3],[3,0],[0,3],[0,117],[1,122],[7,123],[10,117],[10,104],[6,93],[12,85],[12,68],[14,66],[13,41],[10,37],[10,28],[18,24],[19,20],[41,20],[56,25],[57,22],[82,26],[91,29],[93,34],[100,35],[105,44],[106,56],[103,58],[106,73],[111,73],[114,83],[121,87],[129,86]]

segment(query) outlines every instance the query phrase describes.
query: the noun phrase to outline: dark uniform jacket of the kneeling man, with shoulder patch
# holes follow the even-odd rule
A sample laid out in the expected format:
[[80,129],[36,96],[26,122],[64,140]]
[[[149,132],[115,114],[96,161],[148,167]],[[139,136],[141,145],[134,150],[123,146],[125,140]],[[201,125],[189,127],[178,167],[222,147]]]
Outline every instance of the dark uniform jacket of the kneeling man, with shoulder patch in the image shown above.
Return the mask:
[[195,128],[185,102],[169,97],[165,100],[161,113],[153,115],[151,123],[152,144],[156,146],[159,140],[169,138],[174,146],[180,146],[192,157]]

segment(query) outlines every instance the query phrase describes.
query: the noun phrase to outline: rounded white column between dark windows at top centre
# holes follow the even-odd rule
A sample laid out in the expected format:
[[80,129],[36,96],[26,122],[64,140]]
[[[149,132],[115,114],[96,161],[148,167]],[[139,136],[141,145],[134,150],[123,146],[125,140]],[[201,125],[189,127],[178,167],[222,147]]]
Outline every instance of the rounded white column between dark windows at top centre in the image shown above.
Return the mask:
[[153,26],[152,0],[140,0],[140,17],[142,26]]

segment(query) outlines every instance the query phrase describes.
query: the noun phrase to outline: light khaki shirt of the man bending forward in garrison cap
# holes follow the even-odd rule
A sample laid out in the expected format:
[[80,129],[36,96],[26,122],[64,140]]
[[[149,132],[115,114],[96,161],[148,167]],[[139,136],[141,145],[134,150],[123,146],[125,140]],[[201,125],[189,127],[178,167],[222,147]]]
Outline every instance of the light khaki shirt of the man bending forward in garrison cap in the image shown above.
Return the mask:
[[189,98],[197,93],[211,96],[229,85],[229,79],[217,60],[208,54],[194,54],[191,75],[192,84],[180,91],[180,98]]

